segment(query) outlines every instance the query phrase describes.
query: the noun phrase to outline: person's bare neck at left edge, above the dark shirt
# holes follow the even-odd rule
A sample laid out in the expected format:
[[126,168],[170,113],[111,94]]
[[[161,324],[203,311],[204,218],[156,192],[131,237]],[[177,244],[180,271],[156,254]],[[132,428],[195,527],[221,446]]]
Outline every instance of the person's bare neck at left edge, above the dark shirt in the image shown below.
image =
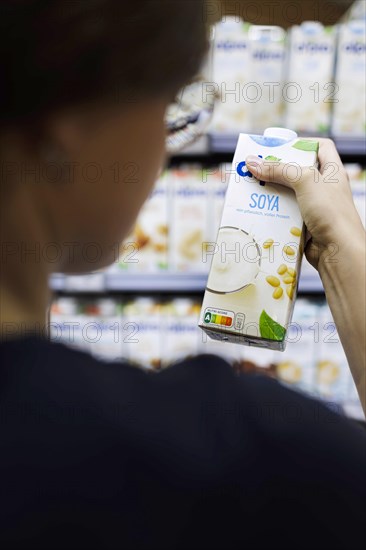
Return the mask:
[[[9,182],[8,182],[9,183]],[[34,186],[33,186],[34,187]],[[0,339],[47,335],[50,302],[45,258],[52,242],[35,189],[14,182],[1,193]]]

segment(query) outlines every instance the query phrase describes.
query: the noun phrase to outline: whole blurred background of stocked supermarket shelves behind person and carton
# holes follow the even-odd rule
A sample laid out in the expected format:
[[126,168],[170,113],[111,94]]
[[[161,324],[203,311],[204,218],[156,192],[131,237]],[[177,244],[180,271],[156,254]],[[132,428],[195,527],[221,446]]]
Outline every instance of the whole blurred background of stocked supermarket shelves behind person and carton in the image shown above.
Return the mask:
[[91,262],[89,275],[52,277],[52,340],[151,372],[215,353],[237,371],[275,377],[364,418],[305,259],[284,353],[209,340],[197,322],[210,268],[202,253],[216,239],[239,132],[284,126],[331,136],[365,223],[365,8],[364,0],[206,3],[214,38],[197,82],[216,104],[204,135],[170,157],[110,268],[93,272]]

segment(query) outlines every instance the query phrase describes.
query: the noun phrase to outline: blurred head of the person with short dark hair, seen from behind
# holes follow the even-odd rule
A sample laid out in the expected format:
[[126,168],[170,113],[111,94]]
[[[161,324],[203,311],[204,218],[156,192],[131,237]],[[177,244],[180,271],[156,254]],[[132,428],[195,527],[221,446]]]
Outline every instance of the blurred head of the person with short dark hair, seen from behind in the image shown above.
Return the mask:
[[[116,259],[164,164],[169,101],[206,51],[202,8],[203,0],[0,4],[2,240],[56,243],[44,272]],[[25,277],[21,262],[7,267],[9,285]],[[30,260],[26,269],[35,279],[42,271]]]

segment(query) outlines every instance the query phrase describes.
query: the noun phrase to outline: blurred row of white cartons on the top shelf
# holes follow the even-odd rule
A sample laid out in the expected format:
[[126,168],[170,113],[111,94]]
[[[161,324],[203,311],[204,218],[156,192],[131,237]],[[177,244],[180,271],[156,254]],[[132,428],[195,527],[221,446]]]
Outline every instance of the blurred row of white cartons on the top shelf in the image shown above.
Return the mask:
[[[366,24],[305,22],[287,33],[226,17],[216,26],[211,132],[270,126],[334,136],[366,129]],[[205,89],[205,93],[207,92]]]

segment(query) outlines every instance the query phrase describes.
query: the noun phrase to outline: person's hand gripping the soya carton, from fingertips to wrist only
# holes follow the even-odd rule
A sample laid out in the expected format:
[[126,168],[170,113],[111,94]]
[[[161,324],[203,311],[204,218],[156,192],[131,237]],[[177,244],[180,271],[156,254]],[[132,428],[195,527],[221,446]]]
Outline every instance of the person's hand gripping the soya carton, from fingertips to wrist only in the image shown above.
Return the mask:
[[319,269],[329,255],[341,253],[365,239],[355,208],[347,173],[329,139],[319,139],[319,170],[294,164],[246,159],[249,170],[258,179],[280,183],[296,193],[307,228],[305,254]]

